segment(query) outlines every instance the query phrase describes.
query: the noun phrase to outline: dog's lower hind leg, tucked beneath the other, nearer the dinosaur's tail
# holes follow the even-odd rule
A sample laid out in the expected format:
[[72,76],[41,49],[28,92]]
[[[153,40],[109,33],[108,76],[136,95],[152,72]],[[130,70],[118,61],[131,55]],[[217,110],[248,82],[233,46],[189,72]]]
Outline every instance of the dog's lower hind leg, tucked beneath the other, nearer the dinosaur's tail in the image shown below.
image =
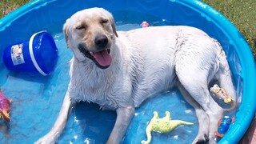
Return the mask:
[[178,83],[178,90],[180,90],[182,96],[186,99],[186,102],[190,103],[191,106],[194,107],[195,113],[198,117],[198,135],[195,138],[193,143],[204,143],[208,142],[208,134],[209,134],[209,118],[206,114],[205,110],[191,97],[191,95],[186,91],[186,89]]

